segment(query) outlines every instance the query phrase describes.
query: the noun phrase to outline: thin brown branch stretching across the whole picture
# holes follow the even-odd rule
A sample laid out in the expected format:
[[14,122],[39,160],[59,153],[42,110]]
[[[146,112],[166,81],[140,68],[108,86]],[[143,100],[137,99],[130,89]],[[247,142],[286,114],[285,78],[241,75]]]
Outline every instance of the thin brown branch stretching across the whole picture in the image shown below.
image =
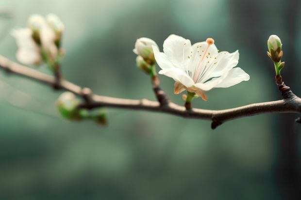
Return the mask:
[[[50,86],[57,84],[55,77],[51,77],[50,75],[46,75],[34,69],[17,64],[16,62],[12,62],[3,56],[0,56],[0,68],[8,73],[14,73],[23,77],[28,77]],[[223,110],[207,110],[199,108],[186,110],[185,107],[172,103],[170,100],[162,103],[148,99],[139,100],[100,96],[93,94],[88,88],[83,89],[80,86],[75,85],[65,79],[61,79],[59,85],[57,85],[57,89],[67,90],[82,96],[85,99],[85,102],[80,105],[80,108],[93,109],[110,107],[162,112],[181,116],[184,118],[210,120],[212,121],[211,127],[213,129],[224,122],[241,117],[259,115],[264,113],[301,113],[301,98],[297,96],[294,96],[294,98],[286,98],[279,101],[256,103]],[[160,92],[162,90],[159,89],[158,91]],[[164,98],[167,99],[165,94]]]

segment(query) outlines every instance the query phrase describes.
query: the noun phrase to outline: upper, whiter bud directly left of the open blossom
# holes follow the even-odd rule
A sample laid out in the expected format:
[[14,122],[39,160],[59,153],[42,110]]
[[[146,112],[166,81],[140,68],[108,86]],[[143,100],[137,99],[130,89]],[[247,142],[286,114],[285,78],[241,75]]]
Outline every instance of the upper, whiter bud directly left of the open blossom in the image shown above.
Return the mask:
[[141,37],[136,40],[134,53],[138,56],[142,56],[149,64],[155,63],[154,54],[151,46],[158,46],[153,40],[146,37]]

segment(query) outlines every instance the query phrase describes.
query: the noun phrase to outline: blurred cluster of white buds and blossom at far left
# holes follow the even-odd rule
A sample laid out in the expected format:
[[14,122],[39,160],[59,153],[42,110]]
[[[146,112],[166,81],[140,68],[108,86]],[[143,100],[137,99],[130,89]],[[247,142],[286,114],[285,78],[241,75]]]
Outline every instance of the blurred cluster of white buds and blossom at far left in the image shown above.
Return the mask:
[[28,27],[15,29],[12,35],[16,38],[17,60],[23,64],[41,64],[53,69],[61,62],[64,50],[61,48],[64,24],[57,15],[31,15]]

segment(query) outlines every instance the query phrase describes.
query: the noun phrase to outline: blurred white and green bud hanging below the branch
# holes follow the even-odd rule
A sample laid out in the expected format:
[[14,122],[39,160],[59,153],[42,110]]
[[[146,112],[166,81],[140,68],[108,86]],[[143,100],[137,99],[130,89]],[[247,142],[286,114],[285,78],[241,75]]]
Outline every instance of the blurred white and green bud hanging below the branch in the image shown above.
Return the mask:
[[78,105],[80,101],[72,92],[63,92],[56,102],[56,107],[61,115],[68,120],[80,120]]

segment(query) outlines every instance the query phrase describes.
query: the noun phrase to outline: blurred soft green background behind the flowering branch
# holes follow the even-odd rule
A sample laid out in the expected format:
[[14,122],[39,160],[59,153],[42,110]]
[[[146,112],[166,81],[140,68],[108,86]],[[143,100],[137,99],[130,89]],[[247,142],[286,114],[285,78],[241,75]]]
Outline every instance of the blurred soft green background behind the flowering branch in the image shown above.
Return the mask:
[[[298,0],[1,0],[0,54],[16,61],[10,35],[29,15],[65,23],[63,74],[95,93],[155,99],[135,67],[135,40],[162,50],[169,34],[192,43],[213,37],[239,49],[251,79],[208,92],[197,108],[225,109],[281,99],[266,55],[268,36],[283,42],[284,81],[300,95]],[[46,67],[39,70],[48,73]],[[160,76],[172,101],[173,80]],[[108,126],[69,122],[56,111],[61,92],[0,72],[0,200],[283,200],[297,198],[298,115],[264,114],[211,130],[209,121],[107,108]],[[299,196],[300,197],[300,196]]]

